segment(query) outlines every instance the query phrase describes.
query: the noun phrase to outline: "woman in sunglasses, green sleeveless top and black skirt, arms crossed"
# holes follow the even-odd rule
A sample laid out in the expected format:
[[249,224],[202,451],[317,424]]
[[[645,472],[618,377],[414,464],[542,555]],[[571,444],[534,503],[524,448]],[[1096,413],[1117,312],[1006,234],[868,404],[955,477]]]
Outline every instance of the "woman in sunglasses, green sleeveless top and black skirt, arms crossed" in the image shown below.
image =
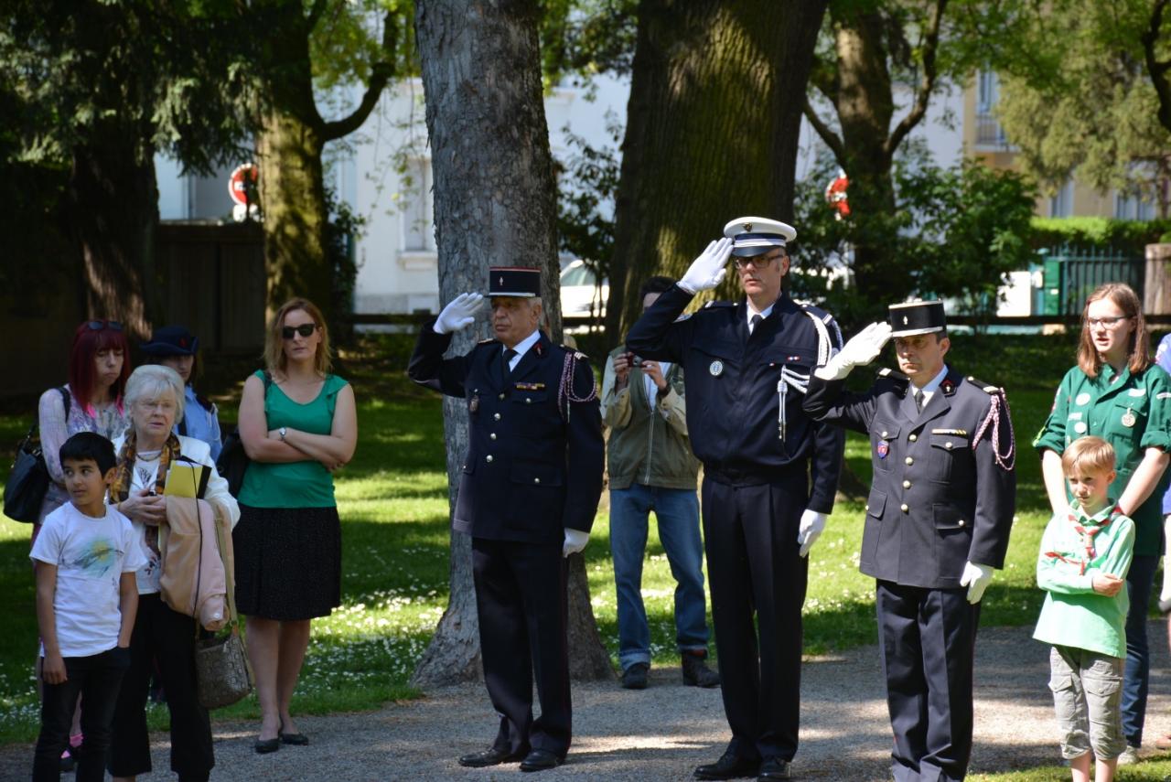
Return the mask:
[[268,377],[249,377],[240,399],[240,440],[252,464],[232,536],[235,602],[247,617],[260,701],[259,753],[309,742],[293,722],[289,701],[310,622],[341,604],[333,472],[357,445],[354,390],[329,373],[329,331],[311,302],[294,299],[276,311],[265,363]]

